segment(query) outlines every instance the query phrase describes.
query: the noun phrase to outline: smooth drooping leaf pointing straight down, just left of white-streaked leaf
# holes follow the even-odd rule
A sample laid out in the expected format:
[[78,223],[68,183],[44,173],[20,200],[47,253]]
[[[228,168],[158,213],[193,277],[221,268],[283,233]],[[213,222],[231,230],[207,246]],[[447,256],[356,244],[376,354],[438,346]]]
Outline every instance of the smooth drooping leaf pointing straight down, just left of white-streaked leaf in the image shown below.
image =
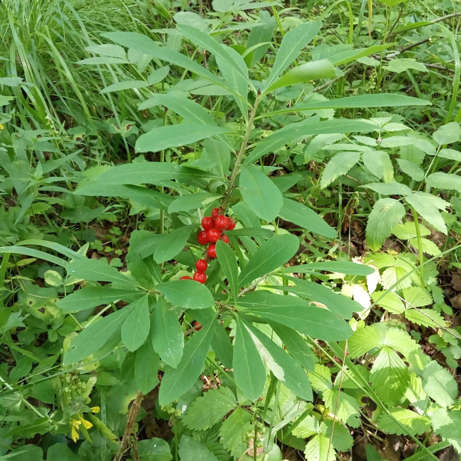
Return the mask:
[[266,384],[266,368],[248,330],[240,317],[236,317],[234,343],[234,377],[243,395],[256,401]]

